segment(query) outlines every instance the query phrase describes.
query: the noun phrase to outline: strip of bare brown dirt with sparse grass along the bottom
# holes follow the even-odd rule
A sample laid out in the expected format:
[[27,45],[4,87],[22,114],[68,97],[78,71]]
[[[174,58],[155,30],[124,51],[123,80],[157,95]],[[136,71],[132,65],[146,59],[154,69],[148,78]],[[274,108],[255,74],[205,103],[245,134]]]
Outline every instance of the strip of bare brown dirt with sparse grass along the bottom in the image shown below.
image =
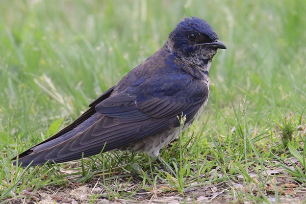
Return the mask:
[[[304,203],[306,189],[290,179],[289,175],[279,174],[281,170],[265,186],[259,185],[255,174],[250,174],[253,182],[245,185],[241,176],[231,181],[198,185],[188,188],[183,193],[173,187],[159,183],[156,186],[143,185],[137,176],[129,182],[125,179],[111,180],[105,188],[100,177],[80,185],[46,186],[37,192],[26,189],[23,198],[7,200],[8,203],[257,203],[266,199],[271,203]],[[113,192],[110,192],[110,189]],[[265,195],[265,196],[263,196]],[[252,198],[253,196],[253,198]],[[258,198],[258,199],[255,199]],[[253,201],[252,201],[253,200]],[[265,201],[265,200],[262,200]]]

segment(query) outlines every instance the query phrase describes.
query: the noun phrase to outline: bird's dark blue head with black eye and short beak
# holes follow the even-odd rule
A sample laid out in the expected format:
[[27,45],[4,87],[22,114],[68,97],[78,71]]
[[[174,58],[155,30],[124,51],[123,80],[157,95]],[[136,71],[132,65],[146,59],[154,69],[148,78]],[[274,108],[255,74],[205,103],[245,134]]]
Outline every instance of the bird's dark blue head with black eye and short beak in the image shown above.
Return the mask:
[[177,24],[165,45],[174,55],[198,65],[210,61],[217,49],[226,49],[212,27],[196,17],[185,18]]

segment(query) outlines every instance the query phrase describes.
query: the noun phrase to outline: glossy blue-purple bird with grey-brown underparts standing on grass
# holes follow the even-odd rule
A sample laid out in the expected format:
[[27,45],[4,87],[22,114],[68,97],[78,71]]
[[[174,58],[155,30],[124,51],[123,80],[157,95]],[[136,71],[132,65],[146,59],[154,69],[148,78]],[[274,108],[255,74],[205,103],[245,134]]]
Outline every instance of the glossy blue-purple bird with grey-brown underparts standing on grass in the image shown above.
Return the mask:
[[179,136],[182,117],[186,130],[207,104],[218,49],[226,46],[206,20],[185,18],[155,54],[69,125],[13,158],[14,165],[58,164],[115,150],[161,161],[159,151]]

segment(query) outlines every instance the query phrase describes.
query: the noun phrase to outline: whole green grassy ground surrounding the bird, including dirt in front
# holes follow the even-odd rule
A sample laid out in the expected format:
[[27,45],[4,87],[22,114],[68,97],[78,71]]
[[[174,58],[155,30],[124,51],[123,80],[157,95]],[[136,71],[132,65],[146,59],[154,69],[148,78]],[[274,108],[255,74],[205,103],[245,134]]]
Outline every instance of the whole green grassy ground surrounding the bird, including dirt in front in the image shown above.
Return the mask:
[[[0,202],[303,203],[305,1],[0,1]],[[77,118],[184,17],[227,46],[199,120],[162,150],[58,166],[11,158]]]

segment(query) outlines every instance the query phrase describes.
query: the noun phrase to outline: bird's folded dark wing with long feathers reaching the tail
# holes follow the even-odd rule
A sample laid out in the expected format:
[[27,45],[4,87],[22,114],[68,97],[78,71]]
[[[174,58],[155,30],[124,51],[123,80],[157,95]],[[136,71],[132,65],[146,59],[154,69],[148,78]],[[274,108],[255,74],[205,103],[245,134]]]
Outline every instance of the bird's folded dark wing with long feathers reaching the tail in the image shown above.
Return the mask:
[[43,164],[48,160],[59,163],[80,159],[82,154],[84,157],[98,154],[103,148],[104,151],[118,149],[161,133],[169,127],[179,126],[177,115],[183,112],[189,120],[203,103],[202,98],[197,97],[140,99],[139,96],[125,92],[109,93],[99,98],[89,109],[95,107],[95,113],[90,117],[81,116],[77,122],[72,122],[46,142],[23,152],[19,162],[23,166],[32,160],[32,165]]

